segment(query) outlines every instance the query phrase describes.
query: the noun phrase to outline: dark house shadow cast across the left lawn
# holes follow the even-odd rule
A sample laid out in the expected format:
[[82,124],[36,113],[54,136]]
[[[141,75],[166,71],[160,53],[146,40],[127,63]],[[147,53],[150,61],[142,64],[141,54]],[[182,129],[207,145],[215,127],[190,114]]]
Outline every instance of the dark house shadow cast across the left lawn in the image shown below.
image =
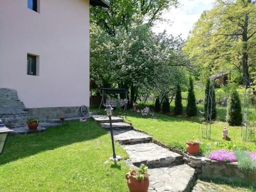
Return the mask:
[[92,140],[105,134],[107,132],[96,122],[88,119],[86,123],[67,122],[40,134],[10,136],[4,153],[0,156],[0,165],[61,146]]

